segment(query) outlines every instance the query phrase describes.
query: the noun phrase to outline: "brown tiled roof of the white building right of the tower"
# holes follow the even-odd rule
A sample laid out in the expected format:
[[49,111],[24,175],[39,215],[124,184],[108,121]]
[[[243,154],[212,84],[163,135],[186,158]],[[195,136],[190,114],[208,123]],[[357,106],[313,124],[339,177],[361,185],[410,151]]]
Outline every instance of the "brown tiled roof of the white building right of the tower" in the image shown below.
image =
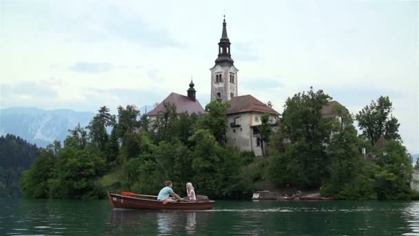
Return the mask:
[[269,106],[254,98],[252,95],[233,97],[228,101],[228,103],[230,106],[227,108],[227,115],[252,111],[279,115],[276,110],[269,108]]

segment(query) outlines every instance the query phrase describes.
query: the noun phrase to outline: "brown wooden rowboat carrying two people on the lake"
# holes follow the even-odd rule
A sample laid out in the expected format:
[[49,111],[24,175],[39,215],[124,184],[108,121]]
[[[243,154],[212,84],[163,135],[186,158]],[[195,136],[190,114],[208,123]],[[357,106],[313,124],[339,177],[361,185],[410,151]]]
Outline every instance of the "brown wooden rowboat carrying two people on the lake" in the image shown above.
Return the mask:
[[124,196],[108,192],[108,199],[114,208],[149,209],[149,210],[211,210],[214,201],[197,199],[196,201],[157,201],[157,196]]

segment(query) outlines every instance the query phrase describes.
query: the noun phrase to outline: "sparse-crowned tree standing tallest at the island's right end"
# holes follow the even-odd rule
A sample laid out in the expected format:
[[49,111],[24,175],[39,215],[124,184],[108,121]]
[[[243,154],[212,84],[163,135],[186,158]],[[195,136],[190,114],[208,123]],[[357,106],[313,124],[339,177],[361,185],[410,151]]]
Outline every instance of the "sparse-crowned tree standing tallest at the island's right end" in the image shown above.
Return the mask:
[[362,130],[362,137],[374,146],[381,135],[385,139],[401,140],[398,134],[398,119],[391,115],[393,104],[389,97],[379,97],[377,101],[371,101],[369,106],[362,108],[356,115],[358,126]]

